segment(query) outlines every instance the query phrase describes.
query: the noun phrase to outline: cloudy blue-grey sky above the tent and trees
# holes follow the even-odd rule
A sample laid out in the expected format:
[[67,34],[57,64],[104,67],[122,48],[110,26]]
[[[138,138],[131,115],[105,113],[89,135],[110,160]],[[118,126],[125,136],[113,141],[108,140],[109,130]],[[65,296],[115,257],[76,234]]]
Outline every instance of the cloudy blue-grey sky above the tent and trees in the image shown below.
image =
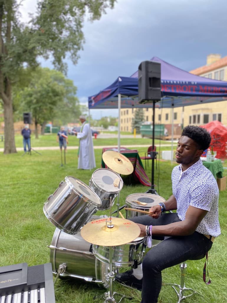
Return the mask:
[[[35,2],[24,0],[24,20]],[[85,21],[84,50],[76,66],[67,61],[67,77],[87,105],[88,96],[118,76],[131,76],[153,56],[186,71],[206,65],[211,53],[227,55],[226,12],[226,0],[118,0],[100,20]],[[94,119],[117,116],[114,109],[90,113]]]

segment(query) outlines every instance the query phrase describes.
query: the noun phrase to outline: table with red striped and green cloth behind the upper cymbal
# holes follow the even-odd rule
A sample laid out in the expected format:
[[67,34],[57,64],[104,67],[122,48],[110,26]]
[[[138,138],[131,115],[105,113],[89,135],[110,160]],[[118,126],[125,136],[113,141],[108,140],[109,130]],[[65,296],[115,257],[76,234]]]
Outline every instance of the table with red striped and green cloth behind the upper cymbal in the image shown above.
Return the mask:
[[[102,153],[108,150],[117,151],[117,148],[103,148]],[[138,151],[121,147],[120,153],[125,157],[127,157],[133,165],[133,173],[129,176],[129,180],[132,180],[133,178],[133,181],[136,183],[141,183],[145,186],[151,186],[151,182],[143,168],[143,164],[138,154]],[[107,168],[107,165],[105,165],[103,159],[102,159],[101,167]]]

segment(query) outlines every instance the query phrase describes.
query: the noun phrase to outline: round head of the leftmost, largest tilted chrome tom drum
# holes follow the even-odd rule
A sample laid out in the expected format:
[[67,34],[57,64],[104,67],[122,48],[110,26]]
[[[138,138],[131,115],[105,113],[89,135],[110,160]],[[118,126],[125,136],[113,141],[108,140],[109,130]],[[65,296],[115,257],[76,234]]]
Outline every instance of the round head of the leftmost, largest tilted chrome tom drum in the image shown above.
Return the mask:
[[87,200],[92,201],[98,206],[102,204],[98,195],[84,182],[74,177],[65,177],[65,181],[77,194],[79,193],[82,197],[87,198]]

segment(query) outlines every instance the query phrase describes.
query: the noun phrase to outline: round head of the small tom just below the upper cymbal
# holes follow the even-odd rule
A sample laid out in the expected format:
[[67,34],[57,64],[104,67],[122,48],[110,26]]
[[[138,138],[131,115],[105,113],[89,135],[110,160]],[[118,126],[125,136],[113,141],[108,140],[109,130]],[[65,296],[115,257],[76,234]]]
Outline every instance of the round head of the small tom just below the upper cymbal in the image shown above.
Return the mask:
[[108,168],[97,169],[91,178],[94,184],[105,192],[118,192],[123,186],[120,175]]

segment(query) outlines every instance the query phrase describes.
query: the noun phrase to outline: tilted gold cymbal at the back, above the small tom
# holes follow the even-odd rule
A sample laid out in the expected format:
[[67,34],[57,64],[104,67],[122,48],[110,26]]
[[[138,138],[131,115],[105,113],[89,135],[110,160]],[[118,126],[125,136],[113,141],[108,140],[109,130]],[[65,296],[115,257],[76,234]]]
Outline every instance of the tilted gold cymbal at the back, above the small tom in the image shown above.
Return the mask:
[[130,160],[117,151],[105,151],[102,158],[104,163],[118,174],[130,175],[133,172]]

